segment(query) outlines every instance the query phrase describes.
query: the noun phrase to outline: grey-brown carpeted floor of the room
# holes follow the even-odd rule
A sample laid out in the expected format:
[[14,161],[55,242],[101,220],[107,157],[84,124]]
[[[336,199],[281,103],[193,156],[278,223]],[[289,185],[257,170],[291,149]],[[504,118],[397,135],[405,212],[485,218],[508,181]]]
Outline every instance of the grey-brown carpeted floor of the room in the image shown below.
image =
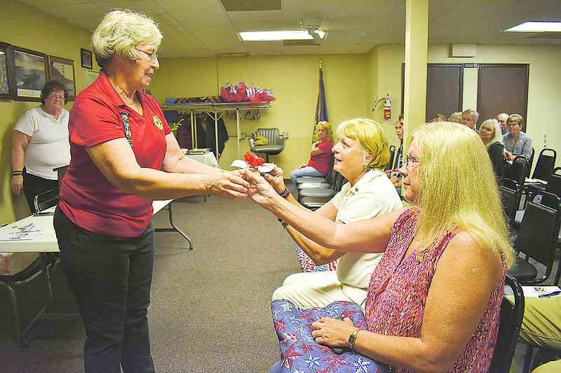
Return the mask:
[[[156,371],[269,372],[279,357],[269,302],[283,279],[300,271],[295,244],[250,200],[189,197],[173,202],[173,212],[194,250],[176,232],[156,233],[149,308]],[[152,221],[168,227],[167,211]],[[22,324],[43,306],[41,288],[41,276],[16,288]],[[77,311],[62,268],[53,288],[58,311]],[[0,290],[0,372],[83,372],[81,320],[41,320],[20,349],[9,302]],[[515,372],[524,352],[519,345]]]

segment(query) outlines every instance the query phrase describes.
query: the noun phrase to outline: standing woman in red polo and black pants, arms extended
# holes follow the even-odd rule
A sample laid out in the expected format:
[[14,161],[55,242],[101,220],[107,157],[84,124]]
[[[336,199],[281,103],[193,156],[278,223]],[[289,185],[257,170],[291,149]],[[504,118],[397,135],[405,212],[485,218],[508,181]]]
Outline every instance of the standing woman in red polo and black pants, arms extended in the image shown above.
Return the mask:
[[72,160],[54,224],[86,328],[86,372],[154,372],[147,320],[152,201],[247,192],[239,172],[184,157],[158,102],[142,92],[160,66],[161,39],[145,15],[107,13],[92,37],[100,76],[70,111]]

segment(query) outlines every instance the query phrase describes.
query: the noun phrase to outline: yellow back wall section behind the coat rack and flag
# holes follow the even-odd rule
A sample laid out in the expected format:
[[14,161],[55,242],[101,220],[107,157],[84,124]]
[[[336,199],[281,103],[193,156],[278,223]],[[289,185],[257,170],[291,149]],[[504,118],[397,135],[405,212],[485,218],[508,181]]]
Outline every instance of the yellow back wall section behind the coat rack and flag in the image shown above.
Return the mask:
[[[166,97],[217,95],[227,82],[235,85],[243,81],[248,86],[273,90],[276,101],[271,102],[271,108],[262,110],[258,120],[242,120],[241,132],[250,136],[259,127],[288,132],[283,153],[271,157],[288,177],[292,169],[309,159],[320,60],[330,123],[336,127],[345,118],[368,115],[365,55],[162,59],[149,90],[161,103]],[[219,164],[229,169],[238,157],[236,120],[227,115],[223,118],[230,139]],[[248,140],[243,139],[242,155],[247,151]]]

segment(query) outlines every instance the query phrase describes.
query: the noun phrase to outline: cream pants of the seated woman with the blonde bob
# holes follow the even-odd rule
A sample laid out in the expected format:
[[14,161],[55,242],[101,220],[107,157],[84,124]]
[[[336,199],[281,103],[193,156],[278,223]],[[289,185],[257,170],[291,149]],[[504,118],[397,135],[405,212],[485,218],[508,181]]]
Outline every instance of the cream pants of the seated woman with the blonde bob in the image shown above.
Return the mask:
[[298,307],[325,307],[336,300],[359,304],[364,310],[366,289],[341,283],[335,271],[291,274],[273,293],[273,300],[286,299]]

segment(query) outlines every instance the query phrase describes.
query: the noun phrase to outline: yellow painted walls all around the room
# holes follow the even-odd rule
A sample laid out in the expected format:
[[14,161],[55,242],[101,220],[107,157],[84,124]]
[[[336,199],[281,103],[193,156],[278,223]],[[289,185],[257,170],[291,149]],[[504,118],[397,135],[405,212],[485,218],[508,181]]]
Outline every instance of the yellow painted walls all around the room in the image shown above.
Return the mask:
[[[86,86],[86,71],[80,66],[80,48],[90,48],[90,34],[33,8],[0,0],[4,27],[0,41],[74,60],[76,90]],[[27,25],[27,27],[22,27]],[[32,28],[30,28],[32,27]],[[22,31],[24,30],[24,31]],[[29,30],[29,31],[25,31]],[[40,30],[40,31],[38,31]],[[164,36],[165,43],[165,36]],[[534,139],[536,152],[546,146],[561,150],[561,133],[556,118],[561,116],[561,46],[477,45],[477,57],[448,57],[450,45],[429,45],[429,63],[529,63],[528,133]],[[242,132],[250,134],[258,127],[278,127],[289,132],[283,153],[271,159],[286,174],[309,157],[313,118],[318,96],[318,68],[322,61],[327,99],[327,113],[334,127],[345,118],[366,116],[384,126],[390,144],[398,145],[393,132],[400,114],[401,64],[404,45],[378,45],[366,55],[296,55],[274,57],[228,57],[162,59],[161,69],[154,74],[149,90],[158,101],[166,97],[194,97],[219,94],[227,82],[273,90],[276,101],[255,121],[243,120]],[[95,62],[94,62],[95,64]],[[477,74],[466,69],[464,75],[464,108],[475,108]],[[393,99],[391,120],[383,119],[383,103],[375,111],[376,99],[390,94]],[[22,113],[36,103],[0,100],[1,163],[0,223],[9,223],[29,213],[22,195],[13,197],[11,181],[11,138],[13,126]],[[72,107],[69,103],[68,109]],[[449,113],[445,113],[448,115]],[[227,119],[231,139],[227,141],[220,166],[229,167],[237,157],[236,122]],[[247,139],[241,142],[242,154],[248,151]],[[557,162],[560,164],[560,162]]]

